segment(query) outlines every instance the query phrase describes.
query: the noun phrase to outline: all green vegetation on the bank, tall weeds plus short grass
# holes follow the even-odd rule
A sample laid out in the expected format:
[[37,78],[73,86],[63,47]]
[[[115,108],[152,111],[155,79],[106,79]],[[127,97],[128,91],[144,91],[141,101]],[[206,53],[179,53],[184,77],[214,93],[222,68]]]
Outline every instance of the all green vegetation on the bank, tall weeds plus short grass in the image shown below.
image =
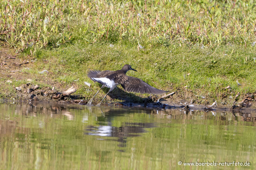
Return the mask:
[[[1,1],[0,7],[0,38],[20,57],[37,59],[29,72],[48,69],[67,83],[79,78],[78,94],[88,96],[88,69],[124,64],[154,87],[187,86],[212,100],[255,92],[253,1]],[[223,90],[228,85],[230,92]]]

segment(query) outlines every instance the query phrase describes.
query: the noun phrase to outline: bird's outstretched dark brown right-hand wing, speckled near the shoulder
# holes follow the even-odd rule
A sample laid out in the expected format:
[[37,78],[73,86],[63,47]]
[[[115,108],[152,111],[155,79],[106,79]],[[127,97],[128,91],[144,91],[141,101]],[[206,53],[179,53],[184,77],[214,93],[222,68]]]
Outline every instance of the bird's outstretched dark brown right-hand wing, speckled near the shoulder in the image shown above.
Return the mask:
[[124,88],[124,91],[130,91],[135,93],[147,93],[147,94],[162,94],[168,91],[159,90],[151,85],[147,84],[141,79],[131,76],[119,77],[120,84]]

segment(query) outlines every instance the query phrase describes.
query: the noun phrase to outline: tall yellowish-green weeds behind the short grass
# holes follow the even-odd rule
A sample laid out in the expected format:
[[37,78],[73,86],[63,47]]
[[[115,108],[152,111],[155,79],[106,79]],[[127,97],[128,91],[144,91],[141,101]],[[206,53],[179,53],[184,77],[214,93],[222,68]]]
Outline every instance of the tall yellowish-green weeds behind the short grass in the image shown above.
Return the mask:
[[0,38],[31,55],[83,40],[152,46],[255,42],[253,1],[1,1]]

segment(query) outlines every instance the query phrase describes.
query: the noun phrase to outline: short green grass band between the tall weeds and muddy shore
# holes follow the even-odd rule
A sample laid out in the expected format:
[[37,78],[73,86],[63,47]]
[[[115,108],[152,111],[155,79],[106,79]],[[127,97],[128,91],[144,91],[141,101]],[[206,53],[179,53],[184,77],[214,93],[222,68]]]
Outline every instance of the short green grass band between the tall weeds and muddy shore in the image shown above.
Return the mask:
[[[124,64],[131,64],[138,71],[129,71],[127,75],[138,77],[156,88],[188,90],[194,95],[206,95],[210,100],[219,101],[223,94],[235,96],[238,91],[242,95],[245,92],[255,93],[256,88],[255,48],[237,44],[221,45],[216,49],[174,44],[138,51],[135,47],[121,44],[110,47],[109,44],[76,43],[63,49],[40,50],[38,54],[38,64],[29,72],[36,75],[38,70],[48,69],[57,75],[56,81],[67,84],[79,79],[76,81],[77,93],[88,98],[99,89],[99,84],[92,83],[86,75],[90,69],[118,70]],[[52,59],[48,64],[42,64],[41,60],[49,56]],[[237,80],[241,86],[237,85]],[[89,93],[84,81],[92,83]],[[231,91],[224,89],[228,85]]]

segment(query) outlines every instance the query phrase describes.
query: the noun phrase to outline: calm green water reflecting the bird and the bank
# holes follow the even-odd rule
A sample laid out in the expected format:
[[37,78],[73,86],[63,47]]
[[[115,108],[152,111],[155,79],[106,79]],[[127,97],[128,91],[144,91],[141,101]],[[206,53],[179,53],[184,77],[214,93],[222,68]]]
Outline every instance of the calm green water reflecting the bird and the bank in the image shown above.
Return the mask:
[[[0,169],[255,169],[243,112],[0,104]],[[184,165],[233,161],[250,165]]]

